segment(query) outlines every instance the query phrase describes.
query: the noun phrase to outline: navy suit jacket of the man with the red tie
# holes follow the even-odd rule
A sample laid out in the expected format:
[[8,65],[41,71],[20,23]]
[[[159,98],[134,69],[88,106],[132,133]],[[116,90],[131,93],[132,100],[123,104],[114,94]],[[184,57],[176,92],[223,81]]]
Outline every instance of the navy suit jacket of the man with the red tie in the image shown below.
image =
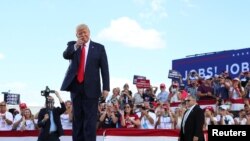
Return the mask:
[[[70,86],[77,75],[81,52],[80,48],[75,50],[75,43],[76,41],[68,42],[68,47],[63,52],[63,57],[70,60],[61,86],[63,91],[74,91]],[[99,43],[90,41],[84,73],[84,92],[87,98],[99,98],[101,96],[100,71],[103,90],[109,91],[109,68],[105,48]]]

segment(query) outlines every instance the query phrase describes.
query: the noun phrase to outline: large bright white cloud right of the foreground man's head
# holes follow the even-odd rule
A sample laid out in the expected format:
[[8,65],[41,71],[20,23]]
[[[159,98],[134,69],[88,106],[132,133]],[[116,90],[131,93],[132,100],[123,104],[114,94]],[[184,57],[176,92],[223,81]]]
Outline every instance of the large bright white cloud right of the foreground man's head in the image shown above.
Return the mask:
[[143,29],[135,20],[121,17],[112,20],[109,27],[103,29],[97,38],[114,41],[128,47],[157,49],[165,47],[165,41],[155,29]]

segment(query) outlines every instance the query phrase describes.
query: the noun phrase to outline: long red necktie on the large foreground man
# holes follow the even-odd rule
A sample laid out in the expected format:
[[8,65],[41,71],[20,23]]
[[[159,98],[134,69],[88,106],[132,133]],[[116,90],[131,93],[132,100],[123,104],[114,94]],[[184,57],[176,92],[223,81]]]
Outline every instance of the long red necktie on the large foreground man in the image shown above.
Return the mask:
[[84,80],[84,67],[85,67],[85,45],[82,46],[80,64],[77,72],[77,80],[79,83]]

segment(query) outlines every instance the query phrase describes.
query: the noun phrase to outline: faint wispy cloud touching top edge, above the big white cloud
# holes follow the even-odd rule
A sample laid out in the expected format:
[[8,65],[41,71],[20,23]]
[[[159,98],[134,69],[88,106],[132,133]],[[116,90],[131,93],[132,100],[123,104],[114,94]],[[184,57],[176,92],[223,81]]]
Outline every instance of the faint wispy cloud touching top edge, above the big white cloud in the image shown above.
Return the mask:
[[135,3],[142,5],[146,11],[140,13],[142,18],[154,19],[166,18],[168,16],[165,9],[165,0],[135,0]]

